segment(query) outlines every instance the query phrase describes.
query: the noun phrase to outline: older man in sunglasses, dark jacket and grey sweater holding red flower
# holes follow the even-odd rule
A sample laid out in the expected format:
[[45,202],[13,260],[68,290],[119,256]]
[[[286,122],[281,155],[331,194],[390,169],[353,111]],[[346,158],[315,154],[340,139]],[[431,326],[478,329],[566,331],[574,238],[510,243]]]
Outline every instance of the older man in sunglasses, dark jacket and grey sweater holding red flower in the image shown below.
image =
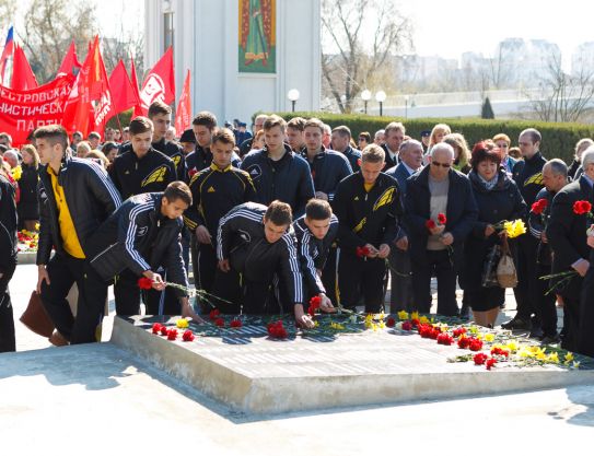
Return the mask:
[[[463,243],[478,217],[470,180],[453,169],[454,149],[446,143],[431,151],[431,163],[407,180],[405,224],[410,241],[415,304],[429,313],[431,276],[438,278],[438,314],[457,315],[456,274]],[[446,220],[440,223],[440,214]],[[445,223],[443,223],[445,222]]]

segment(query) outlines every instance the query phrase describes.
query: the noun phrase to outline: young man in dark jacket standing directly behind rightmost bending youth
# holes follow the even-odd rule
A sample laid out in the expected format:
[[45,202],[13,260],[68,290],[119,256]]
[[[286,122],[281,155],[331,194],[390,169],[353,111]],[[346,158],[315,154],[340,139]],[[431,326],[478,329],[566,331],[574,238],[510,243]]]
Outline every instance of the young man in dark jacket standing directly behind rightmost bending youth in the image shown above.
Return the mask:
[[[322,144],[324,124],[321,120],[316,118],[307,120],[303,127],[303,135],[305,150],[302,152],[302,156],[310,164],[315,196],[331,202],[338,184],[352,174],[352,168],[345,155],[327,150]],[[334,305],[338,304],[336,258],[337,247],[335,245],[330,248],[325,268],[322,271],[322,280]]]

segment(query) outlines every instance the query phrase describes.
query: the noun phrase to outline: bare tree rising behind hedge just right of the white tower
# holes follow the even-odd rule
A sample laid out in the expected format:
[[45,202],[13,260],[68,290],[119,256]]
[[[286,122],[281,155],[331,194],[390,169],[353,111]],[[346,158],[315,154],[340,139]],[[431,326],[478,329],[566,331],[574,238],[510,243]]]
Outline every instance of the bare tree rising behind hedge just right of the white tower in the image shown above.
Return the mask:
[[394,0],[323,0],[322,27],[334,50],[322,56],[324,89],[342,113],[374,81],[394,81],[392,57],[411,47],[410,22]]

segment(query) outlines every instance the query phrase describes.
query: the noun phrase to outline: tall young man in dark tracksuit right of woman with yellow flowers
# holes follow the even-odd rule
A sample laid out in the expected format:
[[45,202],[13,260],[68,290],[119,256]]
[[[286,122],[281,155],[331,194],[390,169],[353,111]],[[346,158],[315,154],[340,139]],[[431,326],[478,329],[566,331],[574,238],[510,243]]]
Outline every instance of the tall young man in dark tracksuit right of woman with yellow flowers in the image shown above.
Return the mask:
[[[538,130],[528,128],[520,133],[519,145],[524,160],[513,167],[513,179],[528,208],[536,200],[536,195],[544,187],[543,166],[547,160],[540,154],[541,136]],[[539,332],[537,321],[531,321],[532,315],[538,308],[538,283],[536,282],[536,253],[538,239],[523,235],[517,238],[517,287],[513,289],[517,303],[514,318],[503,325],[504,329],[533,329]],[[533,323],[534,325],[533,328]]]

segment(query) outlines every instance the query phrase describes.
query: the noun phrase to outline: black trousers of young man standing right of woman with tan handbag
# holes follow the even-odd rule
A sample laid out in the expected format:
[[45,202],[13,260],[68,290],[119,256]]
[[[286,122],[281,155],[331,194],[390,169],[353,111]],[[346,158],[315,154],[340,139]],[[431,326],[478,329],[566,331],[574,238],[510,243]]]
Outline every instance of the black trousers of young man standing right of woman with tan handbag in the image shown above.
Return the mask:
[[534,236],[520,236],[517,238],[517,285],[513,289],[517,304],[516,317],[525,321],[538,307],[538,301],[543,294],[537,282],[536,257],[539,241]]

